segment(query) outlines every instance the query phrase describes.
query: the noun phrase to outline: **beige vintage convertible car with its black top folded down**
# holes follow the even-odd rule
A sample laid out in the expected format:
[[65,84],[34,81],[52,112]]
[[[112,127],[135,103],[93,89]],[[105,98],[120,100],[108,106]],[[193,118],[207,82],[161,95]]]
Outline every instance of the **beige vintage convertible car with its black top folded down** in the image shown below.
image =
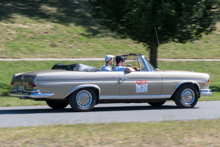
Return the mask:
[[134,72],[99,71],[84,64],[57,64],[51,70],[14,74],[10,95],[46,101],[53,109],[68,104],[90,111],[99,103],[139,103],[162,106],[173,100],[192,108],[202,95],[212,95],[210,76],[189,71],[158,71],[142,54],[123,55]]

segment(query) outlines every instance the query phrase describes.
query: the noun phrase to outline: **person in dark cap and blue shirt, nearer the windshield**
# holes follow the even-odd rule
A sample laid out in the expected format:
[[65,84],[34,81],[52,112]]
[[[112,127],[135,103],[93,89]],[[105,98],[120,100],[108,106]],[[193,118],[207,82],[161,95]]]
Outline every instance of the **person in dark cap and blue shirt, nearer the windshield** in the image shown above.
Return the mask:
[[127,58],[124,58],[123,56],[117,56],[116,57],[116,66],[113,69],[114,71],[125,71],[125,72],[132,72],[135,71],[133,68],[131,68],[131,64],[128,64],[126,67],[124,67],[125,60]]

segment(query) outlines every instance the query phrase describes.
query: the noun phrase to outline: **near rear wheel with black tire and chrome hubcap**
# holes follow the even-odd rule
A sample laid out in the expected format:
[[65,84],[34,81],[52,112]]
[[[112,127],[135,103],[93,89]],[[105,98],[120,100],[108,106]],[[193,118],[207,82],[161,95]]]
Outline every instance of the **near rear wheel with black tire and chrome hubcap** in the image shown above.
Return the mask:
[[79,89],[69,97],[69,103],[73,110],[78,112],[90,111],[96,104],[96,94],[91,88]]

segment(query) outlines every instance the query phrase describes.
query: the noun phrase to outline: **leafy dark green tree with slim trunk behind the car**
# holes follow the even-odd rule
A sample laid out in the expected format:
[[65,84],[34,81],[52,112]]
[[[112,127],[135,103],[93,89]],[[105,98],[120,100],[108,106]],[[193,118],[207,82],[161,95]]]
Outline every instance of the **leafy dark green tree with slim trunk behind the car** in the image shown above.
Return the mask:
[[157,67],[157,38],[161,44],[185,43],[215,30],[218,0],[89,0],[91,14],[121,37],[150,49]]

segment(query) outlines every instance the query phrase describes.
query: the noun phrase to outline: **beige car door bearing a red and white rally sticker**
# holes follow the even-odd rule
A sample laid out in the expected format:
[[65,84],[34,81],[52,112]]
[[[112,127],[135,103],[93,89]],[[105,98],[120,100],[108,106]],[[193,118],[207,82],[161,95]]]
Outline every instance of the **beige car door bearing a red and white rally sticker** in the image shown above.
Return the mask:
[[160,95],[161,74],[148,71],[120,72],[119,88],[119,95]]

